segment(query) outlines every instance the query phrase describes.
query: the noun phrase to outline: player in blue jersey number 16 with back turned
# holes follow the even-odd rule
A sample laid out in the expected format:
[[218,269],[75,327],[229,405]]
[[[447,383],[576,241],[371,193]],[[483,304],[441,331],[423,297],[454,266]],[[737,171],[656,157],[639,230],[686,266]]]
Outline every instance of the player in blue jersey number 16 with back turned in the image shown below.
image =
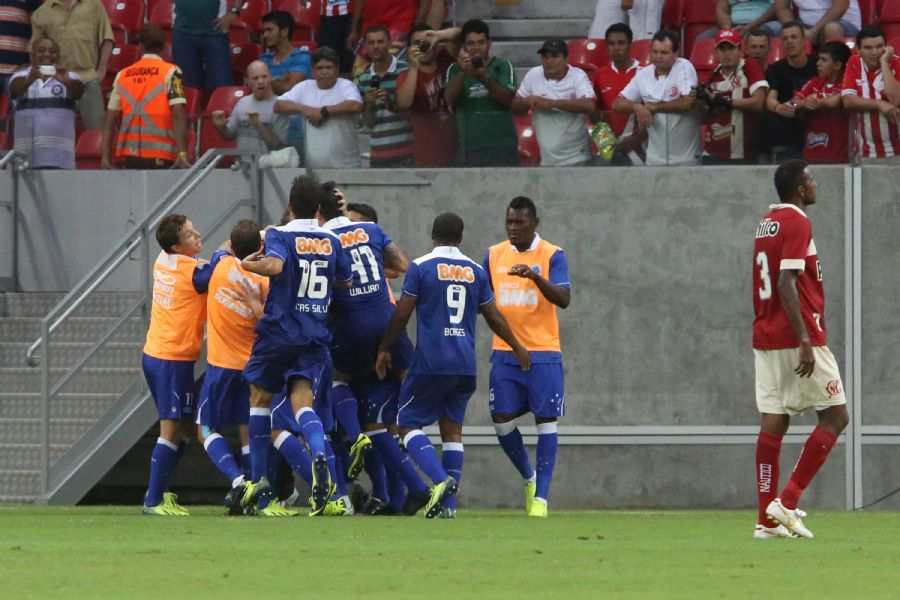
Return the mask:
[[340,239],[319,227],[317,214],[326,196],[312,177],[291,185],[294,220],[266,232],[265,255],[241,262],[252,273],[269,277],[269,295],[256,326],[256,342],[244,377],[250,383],[250,469],[240,504],[249,506],[269,490],[266,458],[271,443],[272,396],[287,382],[294,417],[313,463],[312,512],[321,514],[333,493],[325,432],[313,409],[312,382],[328,362],[328,306],[332,287],[349,287],[350,263]]

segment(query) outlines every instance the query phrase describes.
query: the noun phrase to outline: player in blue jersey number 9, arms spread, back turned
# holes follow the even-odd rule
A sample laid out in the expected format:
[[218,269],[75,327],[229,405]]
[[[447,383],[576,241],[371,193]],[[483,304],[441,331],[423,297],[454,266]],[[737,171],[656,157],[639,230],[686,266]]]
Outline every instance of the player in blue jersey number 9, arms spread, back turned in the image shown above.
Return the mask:
[[[462,423],[475,391],[476,314],[480,312],[494,333],[509,344],[523,370],[531,366],[528,351],[494,304],[484,269],[459,251],[462,235],[463,221],[458,215],[442,213],[434,219],[434,249],[410,264],[403,296],[378,346],[376,362],[378,376],[384,377],[391,366],[391,345],[416,310],[416,350],[400,389],[397,424],[410,456],[434,483],[425,505],[429,519],[441,515],[447,500],[459,489]],[[435,421],[441,431],[442,461],[422,431]]]

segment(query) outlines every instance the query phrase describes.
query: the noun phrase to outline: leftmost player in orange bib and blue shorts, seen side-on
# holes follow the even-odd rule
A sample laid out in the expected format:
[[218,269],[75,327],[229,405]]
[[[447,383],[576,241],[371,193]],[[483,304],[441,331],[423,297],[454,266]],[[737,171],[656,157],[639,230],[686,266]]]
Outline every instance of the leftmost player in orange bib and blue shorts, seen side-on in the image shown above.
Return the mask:
[[165,489],[194,414],[194,361],[203,346],[212,264],[197,259],[203,251],[200,232],[184,215],[163,217],[156,241],[162,251],[153,265],[153,305],[142,366],[159,413],[159,439],[150,459],[144,514],[183,516],[187,511]]

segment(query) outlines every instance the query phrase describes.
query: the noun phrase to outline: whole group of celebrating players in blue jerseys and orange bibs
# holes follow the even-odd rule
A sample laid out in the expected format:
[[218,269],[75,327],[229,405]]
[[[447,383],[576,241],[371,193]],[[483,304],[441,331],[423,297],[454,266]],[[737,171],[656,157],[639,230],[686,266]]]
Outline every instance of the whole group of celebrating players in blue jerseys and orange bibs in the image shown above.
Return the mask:
[[[497,436],[523,478],[526,512],[547,516],[565,408],[556,308],[570,302],[568,265],[537,234],[528,198],[510,202],[505,224],[508,240],[479,264],[458,248],[462,219],[443,213],[433,250],[410,261],[371,207],[345,204],[334,184],[304,176],[280,226],[261,241],[256,223],[240,221],[207,263],[191,221],[165,216],[143,357],[160,417],[144,514],[188,514],[167,481],[196,423],[231,483],[229,514],[299,514],[293,477],[279,473],[286,464],[310,487],[310,516],[455,517],[481,313],[495,333]],[[387,279],[399,276],[395,301]],[[413,312],[415,348],[405,331]],[[196,395],[204,325],[208,367]],[[538,429],[536,468],[514,422],[526,412]],[[440,458],[423,432],[434,423]],[[234,426],[240,458],[221,435]],[[372,487],[354,506],[348,485],[363,470]]]

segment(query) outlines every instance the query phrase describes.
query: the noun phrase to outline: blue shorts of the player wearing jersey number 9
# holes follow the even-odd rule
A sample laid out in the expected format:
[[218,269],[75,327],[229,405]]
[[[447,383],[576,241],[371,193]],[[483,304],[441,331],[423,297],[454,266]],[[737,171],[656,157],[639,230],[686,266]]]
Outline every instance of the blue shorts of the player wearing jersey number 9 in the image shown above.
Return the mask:
[[397,424],[421,429],[439,419],[462,423],[474,392],[474,375],[407,375],[397,400]]

